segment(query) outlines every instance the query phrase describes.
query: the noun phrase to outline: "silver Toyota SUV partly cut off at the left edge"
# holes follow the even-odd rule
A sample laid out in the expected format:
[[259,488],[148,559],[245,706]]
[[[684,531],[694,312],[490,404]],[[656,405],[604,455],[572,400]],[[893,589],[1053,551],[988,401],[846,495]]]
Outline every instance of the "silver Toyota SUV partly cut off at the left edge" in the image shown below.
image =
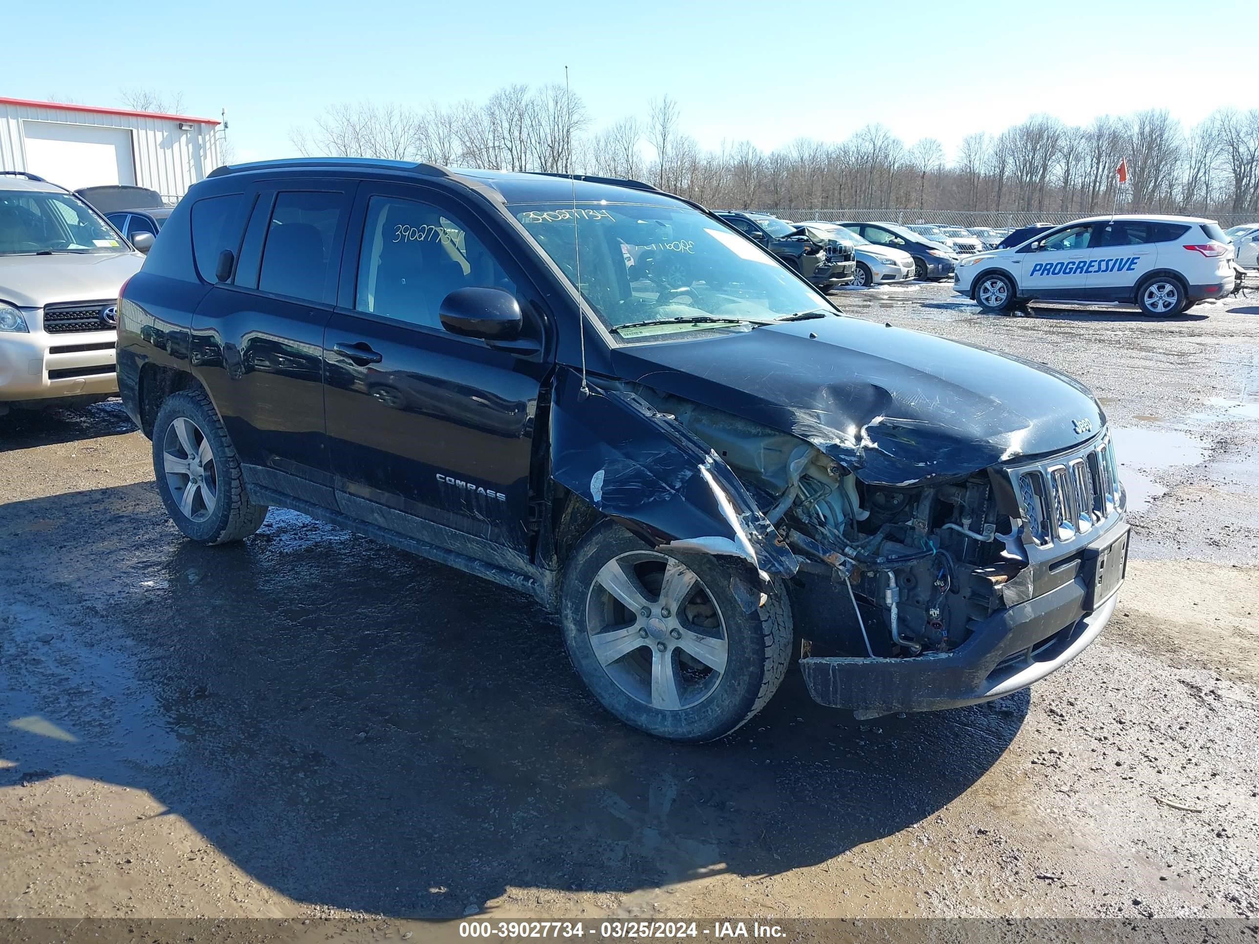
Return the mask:
[[117,391],[118,291],[142,262],[69,191],[0,172],[0,414]]

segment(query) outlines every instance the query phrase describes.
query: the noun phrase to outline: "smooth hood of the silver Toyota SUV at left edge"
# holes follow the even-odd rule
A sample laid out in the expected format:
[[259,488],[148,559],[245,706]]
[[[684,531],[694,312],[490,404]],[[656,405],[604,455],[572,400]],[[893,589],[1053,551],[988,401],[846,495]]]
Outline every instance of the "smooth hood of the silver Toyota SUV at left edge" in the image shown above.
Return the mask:
[[0,256],[0,301],[19,308],[117,298],[145,257],[123,253]]

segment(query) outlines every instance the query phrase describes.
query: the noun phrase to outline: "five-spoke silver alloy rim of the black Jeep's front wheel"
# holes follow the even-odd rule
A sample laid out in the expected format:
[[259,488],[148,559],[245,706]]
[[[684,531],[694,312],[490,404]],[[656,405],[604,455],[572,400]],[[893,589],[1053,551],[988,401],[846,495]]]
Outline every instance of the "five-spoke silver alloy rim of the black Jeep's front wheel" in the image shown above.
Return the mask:
[[699,575],[655,551],[601,568],[585,607],[590,648],[631,697],[680,711],[709,697],[729,657],[725,621]]

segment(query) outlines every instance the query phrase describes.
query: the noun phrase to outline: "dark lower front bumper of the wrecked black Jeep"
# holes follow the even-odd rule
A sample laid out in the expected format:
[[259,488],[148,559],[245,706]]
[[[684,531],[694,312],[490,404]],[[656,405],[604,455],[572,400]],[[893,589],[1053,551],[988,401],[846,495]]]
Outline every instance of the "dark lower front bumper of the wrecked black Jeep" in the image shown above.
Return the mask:
[[[948,653],[913,658],[802,658],[808,694],[861,717],[977,705],[1026,688],[1061,668],[1092,643],[1114,613],[1127,569],[1128,526],[1098,535],[1075,579],[1002,609],[972,626]],[[1121,559],[1115,559],[1118,554]],[[1094,602],[1105,568],[1108,594]]]

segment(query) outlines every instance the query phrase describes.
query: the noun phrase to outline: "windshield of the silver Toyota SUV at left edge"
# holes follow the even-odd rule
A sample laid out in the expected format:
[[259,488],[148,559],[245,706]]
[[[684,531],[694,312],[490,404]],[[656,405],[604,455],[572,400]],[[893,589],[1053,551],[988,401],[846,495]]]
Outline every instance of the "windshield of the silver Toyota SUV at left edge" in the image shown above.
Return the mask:
[[0,256],[118,252],[118,234],[69,194],[0,190]]

